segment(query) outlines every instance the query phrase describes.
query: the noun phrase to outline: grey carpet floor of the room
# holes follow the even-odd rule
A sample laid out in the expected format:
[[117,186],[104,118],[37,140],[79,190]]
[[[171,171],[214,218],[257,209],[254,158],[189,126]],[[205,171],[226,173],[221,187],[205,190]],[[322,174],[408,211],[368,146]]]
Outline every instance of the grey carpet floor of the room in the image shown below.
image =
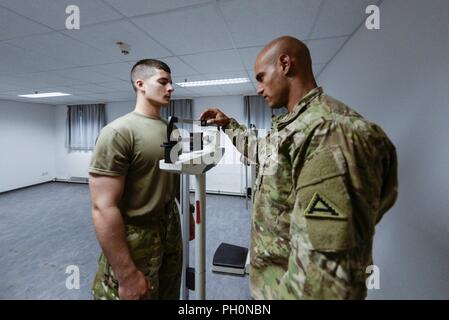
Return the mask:
[[[89,201],[86,184],[60,182],[0,195],[0,299],[91,299],[100,248]],[[245,199],[207,195],[206,203],[206,299],[250,299],[248,276],[211,272],[221,242],[249,246]],[[79,289],[66,287],[71,265],[79,268]]]

